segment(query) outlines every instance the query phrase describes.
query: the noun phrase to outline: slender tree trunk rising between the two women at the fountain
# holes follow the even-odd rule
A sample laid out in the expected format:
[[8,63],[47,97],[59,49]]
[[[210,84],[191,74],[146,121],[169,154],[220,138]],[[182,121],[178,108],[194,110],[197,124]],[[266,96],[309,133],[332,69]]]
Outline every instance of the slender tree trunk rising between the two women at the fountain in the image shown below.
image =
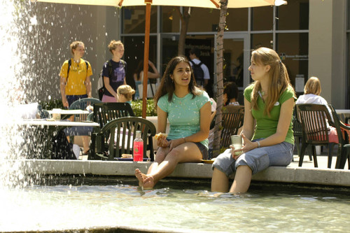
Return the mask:
[[218,34],[216,35],[216,79],[218,94],[216,99],[216,120],[214,127],[213,157],[220,153],[221,143],[221,108],[223,107],[223,33],[226,27],[226,15],[228,12],[228,0],[221,0],[220,20],[218,24]]

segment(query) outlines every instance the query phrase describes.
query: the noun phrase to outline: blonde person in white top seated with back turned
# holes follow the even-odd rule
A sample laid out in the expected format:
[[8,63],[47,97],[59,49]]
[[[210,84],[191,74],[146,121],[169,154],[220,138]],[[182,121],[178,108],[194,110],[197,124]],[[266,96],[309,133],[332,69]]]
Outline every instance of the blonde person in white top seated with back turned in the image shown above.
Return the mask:
[[[304,86],[304,94],[300,95],[299,98],[297,98],[297,101],[295,104],[322,104],[325,105],[328,108],[328,111],[330,113],[330,118],[332,118],[332,111],[330,111],[330,108],[328,107],[327,101],[320,96],[321,94],[321,82],[317,77],[311,77],[309,80],[307,80],[307,83]],[[328,127],[328,139],[330,143],[339,143],[337,129],[335,127],[332,127],[327,123]]]

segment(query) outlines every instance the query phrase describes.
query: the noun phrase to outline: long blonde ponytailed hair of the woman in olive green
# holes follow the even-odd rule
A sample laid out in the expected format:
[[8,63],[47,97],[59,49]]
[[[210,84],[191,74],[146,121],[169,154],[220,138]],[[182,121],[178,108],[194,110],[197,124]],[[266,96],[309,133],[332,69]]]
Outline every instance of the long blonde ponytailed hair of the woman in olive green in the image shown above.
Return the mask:
[[[270,48],[261,47],[253,50],[251,58],[256,64],[262,64],[263,66],[270,66],[269,69],[269,90],[267,90],[267,98],[265,100],[264,114],[269,115],[274,104],[278,101],[280,95],[290,85],[290,80],[286,66],[283,64],[279,55]],[[261,89],[260,81],[255,81],[253,84],[253,92],[251,96],[251,103],[254,109],[258,109],[258,96]],[[293,90],[293,87],[291,88]],[[294,93],[295,95],[295,93]]]

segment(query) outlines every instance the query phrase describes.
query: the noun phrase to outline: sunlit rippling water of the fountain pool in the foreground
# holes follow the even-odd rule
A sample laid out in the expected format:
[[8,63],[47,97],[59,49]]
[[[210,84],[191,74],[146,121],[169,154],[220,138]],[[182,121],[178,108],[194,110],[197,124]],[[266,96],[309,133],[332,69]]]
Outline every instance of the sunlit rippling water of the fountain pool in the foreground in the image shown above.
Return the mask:
[[0,230],[137,223],[151,229],[328,232],[345,231],[348,224],[347,197],[255,191],[242,196],[215,195],[192,189],[142,191],[132,185],[34,186],[6,192]]

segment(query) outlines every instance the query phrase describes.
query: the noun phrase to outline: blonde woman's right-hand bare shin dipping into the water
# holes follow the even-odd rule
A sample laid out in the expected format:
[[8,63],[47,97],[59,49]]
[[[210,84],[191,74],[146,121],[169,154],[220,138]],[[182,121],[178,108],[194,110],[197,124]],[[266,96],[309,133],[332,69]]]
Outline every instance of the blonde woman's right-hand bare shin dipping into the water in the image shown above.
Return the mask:
[[235,180],[230,188],[230,192],[239,193],[248,191],[249,185],[251,185],[251,168],[244,165],[237,167]]

